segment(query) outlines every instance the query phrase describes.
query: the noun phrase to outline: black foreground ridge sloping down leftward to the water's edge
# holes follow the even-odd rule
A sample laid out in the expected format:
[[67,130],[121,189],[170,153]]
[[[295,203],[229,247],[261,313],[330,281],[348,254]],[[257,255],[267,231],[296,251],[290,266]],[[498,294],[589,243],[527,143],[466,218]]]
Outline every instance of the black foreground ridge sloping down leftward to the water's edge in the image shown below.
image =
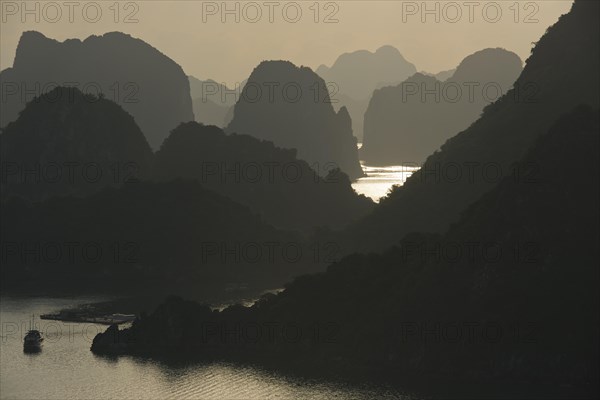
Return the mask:
[[[249,308],[218,312],[170,298],[131,328],[97,335],[92,351],[283,355],[385,367],[398,378],[597,393],[599,119],[587,106],[561,117],[515,166],[521,173],[443,235],[412,234],[382,255],[346,257]],[[470,252],[460,251],[465,244]]]

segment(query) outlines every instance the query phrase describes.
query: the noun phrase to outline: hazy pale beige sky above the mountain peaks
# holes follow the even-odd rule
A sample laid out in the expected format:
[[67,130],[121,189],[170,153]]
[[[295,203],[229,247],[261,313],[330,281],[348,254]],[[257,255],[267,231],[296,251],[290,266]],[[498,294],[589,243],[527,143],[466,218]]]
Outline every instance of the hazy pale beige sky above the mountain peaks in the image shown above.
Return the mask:
[[341,53],[385,44],[428,72],[454,68],[486,47],[503,47],[525,60],[532,42],[572,0],[121,1],[117,7],[114,0],[28,1],[29,14],[22,1],[0,3],[2,69],[12,65],[23,31],[60,41],[122,31],[150,43],[187,74],[233,86],[262,60],[316,69]]

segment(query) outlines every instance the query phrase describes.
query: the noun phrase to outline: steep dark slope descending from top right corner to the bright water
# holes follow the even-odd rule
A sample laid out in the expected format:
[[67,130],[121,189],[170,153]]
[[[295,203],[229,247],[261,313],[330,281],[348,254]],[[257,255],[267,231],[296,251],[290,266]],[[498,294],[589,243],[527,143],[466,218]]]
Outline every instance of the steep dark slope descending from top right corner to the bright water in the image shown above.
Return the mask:
[[597,2],[576,1],[537,43],[515,87],[359,222],[354,243],[381,249],[408,232],[444,231],[510,173],[556,116],[579,104],[597,108],[599,11]]

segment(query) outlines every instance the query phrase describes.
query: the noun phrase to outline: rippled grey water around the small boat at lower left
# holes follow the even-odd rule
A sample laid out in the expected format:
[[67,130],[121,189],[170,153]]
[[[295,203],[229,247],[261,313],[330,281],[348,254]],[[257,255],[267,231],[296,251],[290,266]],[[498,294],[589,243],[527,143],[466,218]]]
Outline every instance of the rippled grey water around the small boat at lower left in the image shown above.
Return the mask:
[[[135,357],[104,358],[90,351],[106,327],[43,321],[41,313],[102,298],[0,299],[0,398],[2,399],[409,399],[393,388],[306,380],[230,363],[167,366]],[[34,324],[43,350],[23,353]]]

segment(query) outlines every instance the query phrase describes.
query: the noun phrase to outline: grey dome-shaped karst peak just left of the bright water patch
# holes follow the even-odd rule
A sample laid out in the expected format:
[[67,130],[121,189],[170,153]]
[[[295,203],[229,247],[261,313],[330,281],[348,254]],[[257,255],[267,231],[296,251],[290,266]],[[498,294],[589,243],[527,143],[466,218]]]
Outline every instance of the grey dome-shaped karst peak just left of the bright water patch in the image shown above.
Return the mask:
[[265,61],[254,69],[235,105],[229,133],[248,134],[298,150],[325,176],[340,168],[362,176],[348,112],[336,113],[325,82],[310,68]]

